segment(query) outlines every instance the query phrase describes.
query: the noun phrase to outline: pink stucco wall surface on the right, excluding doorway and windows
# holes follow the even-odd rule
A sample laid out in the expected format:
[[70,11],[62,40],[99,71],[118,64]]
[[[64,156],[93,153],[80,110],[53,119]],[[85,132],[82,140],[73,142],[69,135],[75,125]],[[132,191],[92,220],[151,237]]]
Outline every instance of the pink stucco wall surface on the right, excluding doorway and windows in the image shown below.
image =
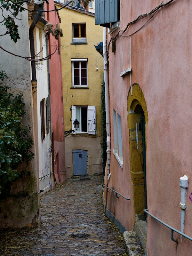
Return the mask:
[[[158,0],[121,0],[120,30],[142,13],[158,6]],[[192,2],[175,0],[161,8],[140,31],[131,36],[132,84],[137,83],[144,94],[148,123],[146,124],[147,206],[149,211],[170,226],[181,229],[179,208],[181,190],[179,177],[189,178],[184,233],[192,237]],[[109,50],[109,91],[111,134],[113,113],[121,116],[123,169],[111,153],[109,186],[133,198],[129,159],[127,97],[130,77],[120,77],[129,67],[129,37],[150,18],[143,18],[116,40],[116,52]],[[115,36],[118,30],[108,36]],[[113,151],[113,136],[111,137]],[[192,198],[192,195],[191,195]],[[133,200],[117,200],[108,193],[107,208],[127,230],[134,227]],[[148,256],[191,255],[192,242],[170,239],[170,230],[148,218]]]

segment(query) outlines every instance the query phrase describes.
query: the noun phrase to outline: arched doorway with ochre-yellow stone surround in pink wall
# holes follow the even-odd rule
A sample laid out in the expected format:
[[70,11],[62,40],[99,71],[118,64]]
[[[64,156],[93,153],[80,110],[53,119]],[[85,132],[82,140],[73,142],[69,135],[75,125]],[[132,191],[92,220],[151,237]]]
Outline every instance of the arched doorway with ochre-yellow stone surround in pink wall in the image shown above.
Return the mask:
[[128,95],[128,129],[130,147],[131,179],[134,193],[134,210],[139,219],[145,219],[147,208],[146,172],[146,102],[139,85],[133,86],[133,95]]

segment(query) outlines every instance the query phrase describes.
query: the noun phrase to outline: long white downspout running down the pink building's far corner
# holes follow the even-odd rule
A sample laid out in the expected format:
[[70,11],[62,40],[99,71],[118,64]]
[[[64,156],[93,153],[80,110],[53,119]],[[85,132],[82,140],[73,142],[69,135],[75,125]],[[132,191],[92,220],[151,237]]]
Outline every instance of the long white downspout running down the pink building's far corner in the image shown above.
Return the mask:
[[107,38],[106,28],[103,28],[103,71],[105,82],[105,112],[106,112],[106,131],[107,131],[107,178],[110,179],[110,160],[111,160],[111,128],[109,118],[109,81],[108,81],[108,62],[107,62]]

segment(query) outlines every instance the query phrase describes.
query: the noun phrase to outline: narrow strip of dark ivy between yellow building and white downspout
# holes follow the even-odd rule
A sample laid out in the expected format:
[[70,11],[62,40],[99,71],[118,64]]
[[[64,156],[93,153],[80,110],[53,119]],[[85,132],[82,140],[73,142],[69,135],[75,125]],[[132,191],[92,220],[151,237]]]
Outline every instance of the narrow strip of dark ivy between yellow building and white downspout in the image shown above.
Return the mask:
[[105,87],[104,82],[102,85],[101,93],[101,148],[102,148],[102,160],[103,160],[103,174],[105,172],[106,160],[107,160],[107,133],[106,133],[106,113],[105,113]]

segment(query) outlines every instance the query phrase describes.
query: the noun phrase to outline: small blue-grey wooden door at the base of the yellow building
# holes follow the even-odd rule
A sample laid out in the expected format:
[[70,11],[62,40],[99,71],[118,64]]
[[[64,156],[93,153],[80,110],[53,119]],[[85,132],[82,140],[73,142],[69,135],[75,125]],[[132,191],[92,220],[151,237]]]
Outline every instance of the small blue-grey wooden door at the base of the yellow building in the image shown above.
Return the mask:
[[87,150],[73,150],[73,175],[87,176]]

